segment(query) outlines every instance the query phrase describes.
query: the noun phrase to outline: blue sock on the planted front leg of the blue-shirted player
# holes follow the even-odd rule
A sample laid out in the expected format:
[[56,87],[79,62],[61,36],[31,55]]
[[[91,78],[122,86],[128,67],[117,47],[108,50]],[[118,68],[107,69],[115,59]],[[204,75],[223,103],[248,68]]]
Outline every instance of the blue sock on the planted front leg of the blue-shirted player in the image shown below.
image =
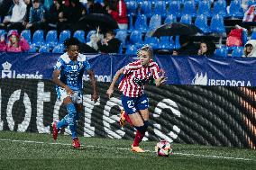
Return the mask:
[[77,115],[76,107],[73,103],[69,103],[66,107],[69,112],[68,114],[69,130],[71,131],[72,139],[76,139],[78,138],[77,121],[75,120]]

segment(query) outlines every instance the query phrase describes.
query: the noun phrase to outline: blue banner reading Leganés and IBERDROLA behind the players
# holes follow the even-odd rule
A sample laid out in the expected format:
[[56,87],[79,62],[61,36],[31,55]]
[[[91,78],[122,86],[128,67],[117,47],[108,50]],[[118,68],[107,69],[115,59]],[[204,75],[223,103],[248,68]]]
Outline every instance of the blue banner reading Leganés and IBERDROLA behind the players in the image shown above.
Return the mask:
[[[0,53],[2,78],[50,79],[59,54]],[[115,72],[138,58],[133,55],[87,55],[97,81],[110,82]],[[154,60],[171,85],[256,86],[256,58],[171,57]],[[84,79],[87,81],[88,76]]]

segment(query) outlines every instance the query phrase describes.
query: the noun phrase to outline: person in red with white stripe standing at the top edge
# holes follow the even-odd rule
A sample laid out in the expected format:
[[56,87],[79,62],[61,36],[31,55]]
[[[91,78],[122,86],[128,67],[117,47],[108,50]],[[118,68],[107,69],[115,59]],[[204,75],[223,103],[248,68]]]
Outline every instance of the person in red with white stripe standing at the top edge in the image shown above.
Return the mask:
[[127,9],[123,0],[110,0],[109,6],[106,7],[106,10],[107,13],[111,14],[114,20],[118,23],[119,29],[128,29]]

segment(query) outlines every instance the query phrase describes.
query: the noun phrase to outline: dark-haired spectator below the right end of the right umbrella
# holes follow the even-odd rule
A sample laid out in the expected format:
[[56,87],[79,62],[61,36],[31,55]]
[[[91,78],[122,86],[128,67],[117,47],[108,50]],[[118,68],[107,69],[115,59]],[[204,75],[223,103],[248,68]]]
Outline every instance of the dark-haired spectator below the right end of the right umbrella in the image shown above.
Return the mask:
[[199,56],[212,56],[215,54],[215,43],[210,40],[202,40],[198,49]]

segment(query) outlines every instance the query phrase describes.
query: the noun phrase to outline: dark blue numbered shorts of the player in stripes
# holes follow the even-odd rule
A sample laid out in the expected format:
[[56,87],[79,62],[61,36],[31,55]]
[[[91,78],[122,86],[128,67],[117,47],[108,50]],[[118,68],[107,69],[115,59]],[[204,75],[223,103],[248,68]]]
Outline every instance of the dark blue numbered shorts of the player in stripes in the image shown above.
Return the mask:
[[134,112],[149,108],[149,99],[146,94],[142,94],[139,97],[127,97],[122,95],[121,100],[123,109],[127,114],[133,114]]

